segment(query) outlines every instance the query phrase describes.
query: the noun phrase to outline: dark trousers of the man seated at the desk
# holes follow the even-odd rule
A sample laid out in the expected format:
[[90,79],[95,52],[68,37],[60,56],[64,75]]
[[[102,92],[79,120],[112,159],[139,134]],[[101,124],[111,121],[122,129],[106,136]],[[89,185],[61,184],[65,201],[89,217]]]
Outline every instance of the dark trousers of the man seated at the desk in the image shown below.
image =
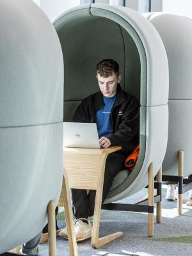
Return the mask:
[[[120,152],[114,152],[108,155],[106,159],[106,168],[104,174],[104,186],[102,192],[102,203],[108,195],[109,189],[114,177],[125,168],[125,155]],[[88,218],[93,216],[95,205],[95,190],[89,193],[85,189],[71,189],[72,208],[76,219]]]

